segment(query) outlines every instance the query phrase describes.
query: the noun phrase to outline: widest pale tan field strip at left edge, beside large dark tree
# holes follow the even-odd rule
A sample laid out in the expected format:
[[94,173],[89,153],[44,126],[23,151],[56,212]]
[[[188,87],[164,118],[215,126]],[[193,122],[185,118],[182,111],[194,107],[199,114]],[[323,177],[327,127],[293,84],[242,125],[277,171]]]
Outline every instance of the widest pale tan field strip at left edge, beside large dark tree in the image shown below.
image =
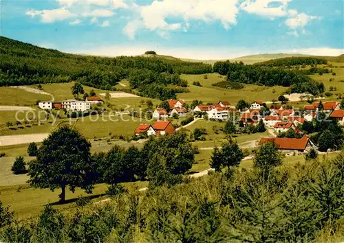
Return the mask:
[[49,133],[28,135],[0,136],[0,146],[17,145],[21,143],[41,142],[49,136]]

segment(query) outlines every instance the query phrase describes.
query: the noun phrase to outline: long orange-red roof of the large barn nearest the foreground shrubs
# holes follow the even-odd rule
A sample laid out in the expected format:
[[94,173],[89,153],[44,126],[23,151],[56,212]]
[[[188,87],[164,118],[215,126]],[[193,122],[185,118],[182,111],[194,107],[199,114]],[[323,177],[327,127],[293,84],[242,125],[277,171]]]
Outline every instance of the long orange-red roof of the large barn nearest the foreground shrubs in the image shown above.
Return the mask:
[[277,147],[281,150],[305,150],[308,143],[308,136],[304,135],[301,139],[263,137],[260,139],[259,144],[263,144],[267,141],[275,142]]

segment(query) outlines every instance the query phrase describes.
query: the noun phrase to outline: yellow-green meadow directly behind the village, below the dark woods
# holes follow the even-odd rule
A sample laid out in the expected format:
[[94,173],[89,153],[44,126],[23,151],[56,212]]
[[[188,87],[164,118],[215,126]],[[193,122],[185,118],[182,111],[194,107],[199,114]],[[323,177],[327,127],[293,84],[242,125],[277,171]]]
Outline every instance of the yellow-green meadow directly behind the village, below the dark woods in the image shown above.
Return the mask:
[[[181,78],[187,80],[189,83],[189,93],[178,93],[178,99],[192,102],[193,100],[202,100],[206,103],[217,103],[219,100],[229,101],[236,104],[239,100],[244,99],[247,102],[254,102],[255,100],[262,100],[264,102],[277,100],[279,95],[288,88],[282,86],[258,86],[253,84],[245,84],[244,89],[224,89],[212,86],[217,82],[225,80],[225,76],[220,76],[218,73],[208,73],[208,79],[204,79],[204,75],[182,75]],[[194,81],[200,82],[202,87],[195,86]]]

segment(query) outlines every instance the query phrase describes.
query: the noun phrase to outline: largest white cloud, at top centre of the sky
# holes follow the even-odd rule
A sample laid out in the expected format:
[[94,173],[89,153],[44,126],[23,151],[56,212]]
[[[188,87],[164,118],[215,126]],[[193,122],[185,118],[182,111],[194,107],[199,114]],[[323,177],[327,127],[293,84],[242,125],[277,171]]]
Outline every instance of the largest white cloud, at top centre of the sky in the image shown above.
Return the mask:
[[[182,18],[185,22],[196,19],[202,21],[219,20],[226,30],[230,25],[237,23],[237,0],[202,0],[202,1],[183,1],[183,0],[154,0],[149,5],[135,6],[140,17],[137,19],[143,23],[142,27],[148,30],[178,30],[182,23],[167,23],[168,18]],[[136,22],[137,23],[137,22]],[[133,24],[131,27],[131,36],[134,36]],[[138,30],[138,26],[135,28]],[[125,32],[127,32],[125,30]],[[130,37],[130,36],[129,36]]]

